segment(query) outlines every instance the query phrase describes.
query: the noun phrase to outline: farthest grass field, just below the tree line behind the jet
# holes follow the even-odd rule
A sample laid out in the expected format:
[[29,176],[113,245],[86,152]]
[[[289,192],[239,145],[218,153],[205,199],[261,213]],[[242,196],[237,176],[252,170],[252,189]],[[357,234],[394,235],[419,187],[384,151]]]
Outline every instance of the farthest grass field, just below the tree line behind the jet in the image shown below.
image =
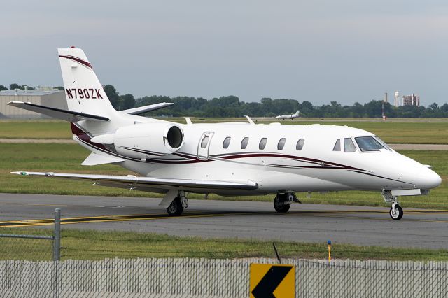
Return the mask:
[[[185,123],[183,118],[164,118],[164,120],[174,120]],[[229,122],[242,121],[242,118],[193,118],[194,123],[201,122]],[[269,123],[274,120],[257,120],[258,123]],[[394,119],[388,121],[378,121],[377,119],[319,119],[300,118],[300,120],[285,120],[282,124],[302,124],[308,125],[320,123],[322,125],[349,125],[359,129],[365,129],[377,134],[386,143],[430,143],[448,144],[448,119]],[[66,122],[56,120],[34,120],[34,121],[0,121],[0,138],[7,139],[71,139],[70,127]]]

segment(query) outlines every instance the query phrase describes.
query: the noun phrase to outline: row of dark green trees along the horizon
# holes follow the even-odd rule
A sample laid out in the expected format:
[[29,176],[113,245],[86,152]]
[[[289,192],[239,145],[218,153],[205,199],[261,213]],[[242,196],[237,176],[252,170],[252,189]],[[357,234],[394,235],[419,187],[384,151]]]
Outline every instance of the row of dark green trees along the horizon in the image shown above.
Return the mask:
[[[13,87],[23,89],[25,85],[11,84]],[[3,88],[3,89],[2,89]],[[64,90],[64,87],[56,87]],[[28,87],[29,90],[30,87]],[[0,90],[8,88],[0,85]],[[204,99],[202,97],[167,97],[167,96],[146,96],[134,98],[132,94],[120,95],[113,85],[104,85],[104,91],[109,97],[111,104],[118,111],[160,102],[173,102],[174,106],[162,108],[157,111],[149,112],[150,116],[169,115],[174,117],[192,116],[192,117],[243,117],[250,115],[253,117],[275,117],[280,114],[291,114],[299,110],[303,117],[316,118],[380,118],[382,116],[381,106],[383,101],[372,100],[365,104],[356,102],[353,106],[342,106],[337,101],[331,101],[330,104],[314,106],[310,101],[299,102],[295,99],[272,99],[262,98],[260,102],[244,102],[239,97],[230,95],[225,97],[215,97],[213,99]],[[448,117],[448,104],[439,106],[437,103],[424,106],[392,106],[390,103],[384,103],[384,115],[388,118],[445,118]]]

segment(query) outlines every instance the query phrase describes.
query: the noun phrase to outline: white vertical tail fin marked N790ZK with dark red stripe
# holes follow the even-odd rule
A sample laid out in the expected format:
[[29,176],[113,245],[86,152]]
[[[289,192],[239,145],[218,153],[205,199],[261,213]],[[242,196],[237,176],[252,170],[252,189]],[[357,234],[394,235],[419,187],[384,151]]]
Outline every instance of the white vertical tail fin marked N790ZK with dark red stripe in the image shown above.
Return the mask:
[[118,112],[111,105],[84,51],[62,48],[57,52],[69,111],[112,119]]

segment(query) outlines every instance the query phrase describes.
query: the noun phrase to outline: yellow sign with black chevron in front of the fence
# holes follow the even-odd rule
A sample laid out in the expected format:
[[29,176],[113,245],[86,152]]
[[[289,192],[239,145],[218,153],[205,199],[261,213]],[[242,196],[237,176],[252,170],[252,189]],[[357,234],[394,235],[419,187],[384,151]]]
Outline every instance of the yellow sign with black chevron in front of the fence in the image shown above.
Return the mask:
[[251,264],[250,297],[295,297],[295,267],[284,264]]

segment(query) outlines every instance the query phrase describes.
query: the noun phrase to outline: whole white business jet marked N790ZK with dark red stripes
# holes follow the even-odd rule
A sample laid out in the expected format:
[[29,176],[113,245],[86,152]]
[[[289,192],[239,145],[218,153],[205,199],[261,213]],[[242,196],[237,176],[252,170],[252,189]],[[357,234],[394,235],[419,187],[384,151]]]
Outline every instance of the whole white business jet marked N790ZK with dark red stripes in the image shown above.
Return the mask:
[[181,215],[187,193],[223,196],[276,194],[274,208],[286,212],[295,192],[370,190],[403,215],[398,196],[428,194],[440,176],[389,148],[365,130],[334,125],[186,125],[145,118],[141,113],[169,103],[116,111],[83,50],[59,49],[68,111],[11,101],[10,106],[71,122],[73,140],[92,153],[83,165],[118,164],[139,176],[38,173],[90,180],[94,185],[165,194],[160,206]]

